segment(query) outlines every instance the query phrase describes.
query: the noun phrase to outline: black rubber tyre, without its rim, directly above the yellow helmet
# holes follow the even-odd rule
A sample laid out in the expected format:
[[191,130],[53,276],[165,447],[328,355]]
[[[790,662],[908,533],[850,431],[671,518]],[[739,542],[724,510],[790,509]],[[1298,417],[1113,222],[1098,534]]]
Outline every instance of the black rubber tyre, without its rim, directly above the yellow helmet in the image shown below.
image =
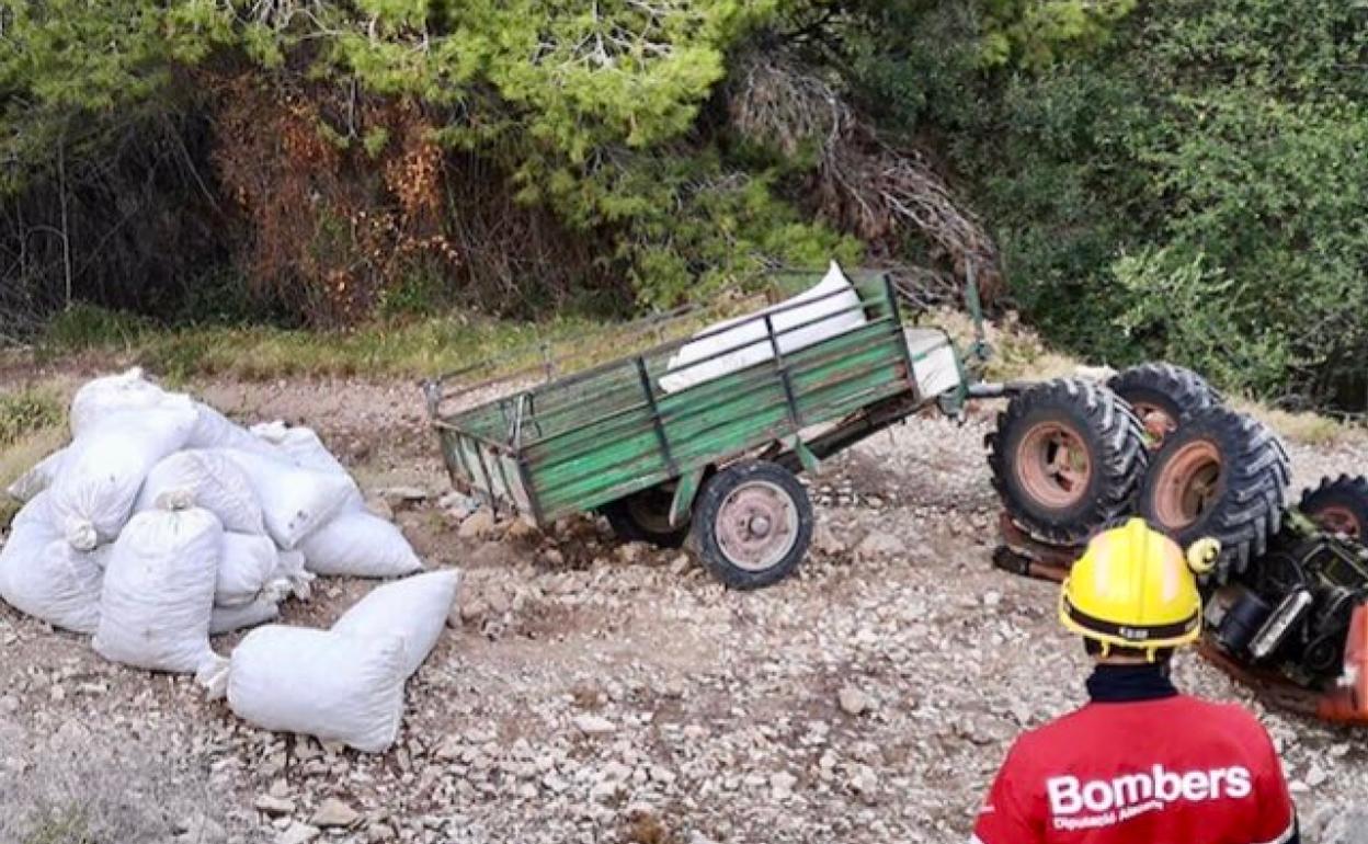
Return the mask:
[[[1201,518],[1174,529],[1156,513],[1156,490],[1172,456],[1198,440],[1212,443],[1220,454],[1222,488]],[[1166,529],[1183,547],[1202,536],[1220,540],[1215,579],[1224,583],[1264,555],[1268,540],[1282,529],[1290,477],[1287,450],[1268,425],[1226,408],[1208,408],[1166,438],[1150,458],[1135,506],[1140,516]]]

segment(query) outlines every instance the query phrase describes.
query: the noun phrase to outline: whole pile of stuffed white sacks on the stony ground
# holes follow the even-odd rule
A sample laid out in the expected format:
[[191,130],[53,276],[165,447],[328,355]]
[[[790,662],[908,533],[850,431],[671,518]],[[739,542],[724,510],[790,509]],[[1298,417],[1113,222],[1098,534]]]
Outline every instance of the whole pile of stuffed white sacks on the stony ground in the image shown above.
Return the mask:
[[8,488],[25,505],[0,547],[0,598],[93,635],[107,659],[193,673],[261,726],[389,747],[458,572],[380,587],[332,631],[253,631],[224,659],[211,635],[272,621],[316,575],[423,562],[309,428],[244,428],[140,369],[81,387],[70,419],[71,443]]

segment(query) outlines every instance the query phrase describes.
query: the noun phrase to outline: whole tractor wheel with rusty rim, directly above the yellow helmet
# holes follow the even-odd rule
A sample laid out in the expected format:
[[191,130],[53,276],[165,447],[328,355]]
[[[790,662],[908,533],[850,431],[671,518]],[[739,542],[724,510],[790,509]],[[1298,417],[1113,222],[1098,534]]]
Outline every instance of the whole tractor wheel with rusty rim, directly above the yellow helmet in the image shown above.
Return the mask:
[[1263,423],[1226,408],[1194,413],[1149,461],[1140,516],[1187,547],[1220,542],[1215,579],[1242,575],[1282,528],[1291,464]]

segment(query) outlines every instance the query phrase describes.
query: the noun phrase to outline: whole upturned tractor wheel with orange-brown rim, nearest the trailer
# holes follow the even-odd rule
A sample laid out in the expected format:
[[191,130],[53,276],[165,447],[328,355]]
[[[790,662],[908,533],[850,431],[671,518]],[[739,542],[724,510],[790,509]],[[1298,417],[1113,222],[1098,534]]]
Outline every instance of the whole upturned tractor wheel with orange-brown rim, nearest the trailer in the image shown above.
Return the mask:
[[1019,393],[985,443],[1007,514],[1036,539],[1060,546],[1078,544],[1126,514],[1148,458],[1130,406],[1081,379]]

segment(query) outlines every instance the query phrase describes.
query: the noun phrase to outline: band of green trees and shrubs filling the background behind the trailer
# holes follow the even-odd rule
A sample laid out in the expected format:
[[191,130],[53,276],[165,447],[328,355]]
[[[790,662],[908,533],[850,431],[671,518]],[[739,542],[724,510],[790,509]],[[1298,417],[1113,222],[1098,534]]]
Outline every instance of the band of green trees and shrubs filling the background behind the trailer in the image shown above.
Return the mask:
[[666,306],[834,254],[1361,410],[1365,52],[1343,0],[0,0],[0,334]]

